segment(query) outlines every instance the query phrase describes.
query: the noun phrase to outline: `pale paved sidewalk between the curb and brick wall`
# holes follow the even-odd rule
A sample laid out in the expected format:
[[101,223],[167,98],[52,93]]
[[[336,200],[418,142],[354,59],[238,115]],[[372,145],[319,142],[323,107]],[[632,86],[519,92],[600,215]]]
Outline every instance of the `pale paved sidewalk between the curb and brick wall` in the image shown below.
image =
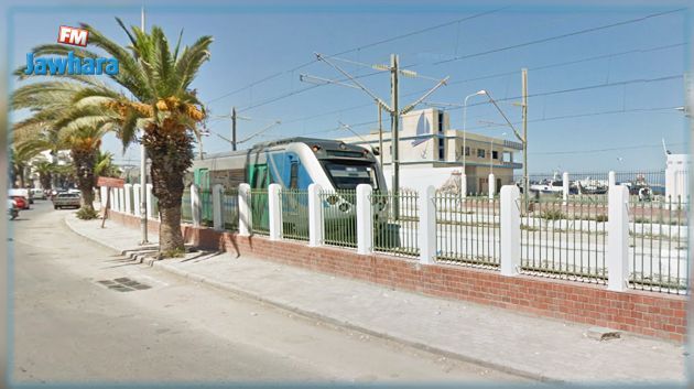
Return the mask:
[[[65,219],[76,234],[113,250],[147,257],[138,229]],[[658,382],[685,379],[684,347],[622,333],[598,342],[588,326],[464,301],[430,298],[230,253],[191,252],[150,261],[167,271],[304,315],[451,357],[542,380]]]

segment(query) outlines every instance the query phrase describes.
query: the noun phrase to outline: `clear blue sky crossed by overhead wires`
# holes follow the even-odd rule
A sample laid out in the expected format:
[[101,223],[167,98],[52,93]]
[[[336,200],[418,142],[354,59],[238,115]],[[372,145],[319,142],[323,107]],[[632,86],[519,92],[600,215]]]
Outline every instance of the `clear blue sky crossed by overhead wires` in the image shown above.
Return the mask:
[[[517,128],[521,111],[513,102],[520,101],[520,69],[528,68],[530,172],[660,170],[665,161],[662,139],[673,152],[687,148],[686,118],[676,109],[685,104],[691,55],[691,10],[676,11],[682,3],[337,4],[194,8],[189,2],[144,2],[148,26],[162,26],[172,44],[182,29],[184,43],[205,34],[215,39],[212,58],[193,84],[210,112],[205,152],[230,150],[219,136],[230,138],[231,107],[250,118],[239,120],[239,139],[281,121],[243,147],[293,136],[349,137],[339,121],[360,133],[375,129],[377,109],[366,93],[300,80],[302,74],[344,78],[315,61],[314,53],[335,55],[335,64],[364,76],[359,80],[386,101],[389,74],[368,74],[377,73],[371,65],[388,64],[391,53],[399,54],[401,66],[419,75],[401,77],[401,107],[449,76],[425,101],[462,105],[465,96],[486,89]],[[115,17],[140,23],[140,3],[22,7],[8,14],[11,68],[25,66],[33,46],[55,42],[59,25],[87,22],[126,44]],[[17,87],[12,83],[10,87]],[[460,129],[462,109],[447,109],[452,128]],[[13,112],[11,118],[25,115]],[[469,131],[496,137],[506,132],[512,139],[508,128],[486,123],[501,121],[484,98],[469,99]],[[104,144],[118,163],[138,163],[138,148],[123,152],[113,136]]]

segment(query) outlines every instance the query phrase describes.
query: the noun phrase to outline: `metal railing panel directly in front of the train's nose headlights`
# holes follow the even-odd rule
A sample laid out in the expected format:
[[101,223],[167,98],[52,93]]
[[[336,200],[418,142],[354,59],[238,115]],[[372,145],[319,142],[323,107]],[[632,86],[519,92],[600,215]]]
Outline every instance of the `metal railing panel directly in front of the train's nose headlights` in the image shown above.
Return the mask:
[[357,247],[357,192],[321,191],[323,205],[323,242],[338,247]]

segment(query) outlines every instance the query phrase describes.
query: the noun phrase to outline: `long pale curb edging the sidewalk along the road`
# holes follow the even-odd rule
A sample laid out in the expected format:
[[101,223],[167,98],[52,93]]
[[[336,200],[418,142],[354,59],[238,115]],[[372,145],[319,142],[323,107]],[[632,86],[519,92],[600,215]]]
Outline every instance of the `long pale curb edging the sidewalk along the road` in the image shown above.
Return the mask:
[[327,324],[337,326],[337,327],[341,327],[345,329],[350,329],[350,331],[357,331],[357,332],[361,332],[365,333],[367,335],[373,336],[373,337],[378,337],[381,339],[386,339],[389,342],[394,342],[394,343],[399,343],[402,345],[406,345],[420,350],[424,350],[427,353],[433,353],[433,354],[440,354],[442,356],[445,356],[447,358],[452,358],[452,359],[457,359],[460,361],[465,361],[465,363],[470,363],[470,364],[475,364],[477,366],[480,367],[486,367],[486,368],[490,368],[490,369],[495,369],[501,372],[506,372],[506,374],[510,374],[510,375],[514,375],[518,377],[522,377],[522,378],[528,378],[531,380],[535,380],[535,381],[540,381],[540,382],[547,382],[547,383],[563,383],[566,382],[564,380],[561,379],[556,379],[556,378],[552,378],[552,377],[547,377],[545,375],[542,374],[538,374],[538,372],[532,372],[532,371],[527,371],[527,370],[521,370],[521,369],[516,369],[509,366],[505,366],[505,365],[500,365],[494,361],[488,361],[485,359],[479,359],[479,358],[475,358],[473,356],[468,356],[468,355],[464,355],[464,354],[458,354],[458,353],[454,353],[454,352],[449,352],[449,350],[445,350],[438,347],[434,347],[434,346],[430,346],[420,342],[415,342],[415,341],[409,341],[404,337],[399,337],[395,335],[390,335],[386,332],[378,332],[378,331],[373,331],[370,329],[366,326],[359,325],[359,324],[354,324],[354,323],[349,323],[346,321],[341,321],[332,316],[327,316],[324,315],[322,313],[318,312],[314,312],[314,311],[307,311],[304,309],[300,309],[283,302],[279,302],[279,301],[274,301],[274,300],[269,300],[265,298],[262,298],[258,294],[245,291],[242,289],[238,289],[235,288],[232,285],[229,285],[228,283],[224,283],[217,280],[213,280],[209,279],[205,275],[200,275],[200,274],[196,274],[186,270],[181,270],[177,269],[171,264],[167,264],[165,262],[162,262],[161,260],[158,260],[155,258],[151,258],[148,257],[142,253],[138,253],[138,252],[131,252],[131,250],[121,250],[119,248],[116,248],[113,246],[110,246],[109,244],[106,244],[104,241],[100,240],[96,240],[85,234],[82,234],[79,231],[77,231],[75,228],[73,228],[73,226],[71,225],[71,223],[67,220],[67,217],[64,218],[64,223],[65,225],[75,234],[77,234],[78,236],[85,238],[85,239],[89,239],[90,241],[94,241],[98,245],[101,245],[104,247],[107,247],[109,249],[112,249],[115,251],[120,252],[122,256],[127,256],[128,258],[132,259],[133,261],[135,261],[137,263],[141,263],[141,264],[147,264],[151,268],[156,267],[159,269],[162,269],[164,271],[167,271],[172,274],[175,274],[177,277],[184,278],[184,279],[188,279],[195,282],[199,282],[199,283],[205,283],[207,285],[210,285],[215,289],[225,291],[225,292],[230,292],[232,294],[237,294],[240,295],[242,298],[252,300],[252,301],[257,301],[257,302],[261,302],[263,304],[268,304],[274,307],[278,307],[280,310],[284,310],[284,311],[289,311],[292,313],[295,313],[297,315],[302,315],[304,317],[308,317],[308,318],[313,318],[313,320],[318,320],[321,322],[325,322]]

